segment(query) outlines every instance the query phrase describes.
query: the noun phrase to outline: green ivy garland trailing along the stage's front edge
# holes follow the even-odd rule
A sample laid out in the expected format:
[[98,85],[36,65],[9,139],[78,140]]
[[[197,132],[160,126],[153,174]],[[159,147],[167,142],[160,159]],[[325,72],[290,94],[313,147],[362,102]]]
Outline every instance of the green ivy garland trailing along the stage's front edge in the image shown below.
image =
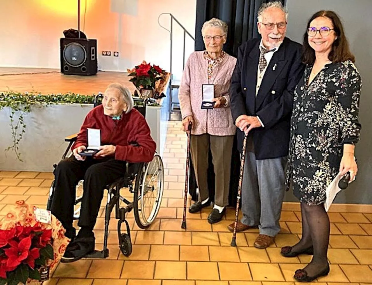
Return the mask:
[[[72,92],[65,94],[48,94],[42,95],[38,92],[18,93],[13,91],[0,92],[0,110],[4,107],[10,108],[10,127],[12,129],[12,144],[8,146],[6,151],[13,150],[17,159],[22,161],[19,152],[19,142],[26,132],[26,124],[24,115],[31,111],[32,107],[47,107],[49,105],[60,104],[93,104],[96,95],[80,95]],[[135,100],[135,106],[143,106],[143,101]],[[159,106],[154,101],[150,101],[147,105]],[[19,114],[18,119],[16,113]]]

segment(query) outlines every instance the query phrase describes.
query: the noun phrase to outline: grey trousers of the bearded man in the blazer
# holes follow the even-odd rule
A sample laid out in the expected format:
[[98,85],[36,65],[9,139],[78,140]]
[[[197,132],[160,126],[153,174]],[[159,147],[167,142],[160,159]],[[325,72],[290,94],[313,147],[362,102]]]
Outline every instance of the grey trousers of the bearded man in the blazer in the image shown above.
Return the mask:
[[285,192],[287,157],[256,160],[250,149],[246,152],[241,189],[241,222],[259,226],[260,234],[275,237],[280,231],[279,219]]

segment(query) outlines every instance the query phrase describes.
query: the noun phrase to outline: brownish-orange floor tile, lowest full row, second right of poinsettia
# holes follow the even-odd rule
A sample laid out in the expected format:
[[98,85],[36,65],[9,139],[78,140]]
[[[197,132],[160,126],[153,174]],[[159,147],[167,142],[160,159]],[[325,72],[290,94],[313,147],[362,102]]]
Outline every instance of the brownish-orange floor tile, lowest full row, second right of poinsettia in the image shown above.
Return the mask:
[[87,278],[120,278],[122,260],[93,260]]

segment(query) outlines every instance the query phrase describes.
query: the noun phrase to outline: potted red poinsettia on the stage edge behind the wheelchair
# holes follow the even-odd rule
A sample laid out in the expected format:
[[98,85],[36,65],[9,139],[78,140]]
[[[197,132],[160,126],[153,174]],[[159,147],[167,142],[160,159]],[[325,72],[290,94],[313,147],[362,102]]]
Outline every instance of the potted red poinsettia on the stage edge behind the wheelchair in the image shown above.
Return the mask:
[[157,65],[151,65],[142,61],[138,66],[133,69],[127,69],[128,76],[132,77],[129,81],[134,84],[134,86],[139,91],[139,95],[142,97],[157,97],[157,87],[161,80],[164,81],[168,73],[161,69]]

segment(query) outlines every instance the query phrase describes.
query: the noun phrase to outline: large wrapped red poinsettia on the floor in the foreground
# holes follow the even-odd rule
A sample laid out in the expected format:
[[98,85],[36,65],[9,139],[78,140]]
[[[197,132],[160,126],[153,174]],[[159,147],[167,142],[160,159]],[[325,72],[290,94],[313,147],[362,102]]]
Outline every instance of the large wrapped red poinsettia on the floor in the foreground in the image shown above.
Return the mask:
[[36,211],[18,201],[1,221],[0,285],[41,284],[64,253],[68,239],[62,225],[54,216],[38,221]]

